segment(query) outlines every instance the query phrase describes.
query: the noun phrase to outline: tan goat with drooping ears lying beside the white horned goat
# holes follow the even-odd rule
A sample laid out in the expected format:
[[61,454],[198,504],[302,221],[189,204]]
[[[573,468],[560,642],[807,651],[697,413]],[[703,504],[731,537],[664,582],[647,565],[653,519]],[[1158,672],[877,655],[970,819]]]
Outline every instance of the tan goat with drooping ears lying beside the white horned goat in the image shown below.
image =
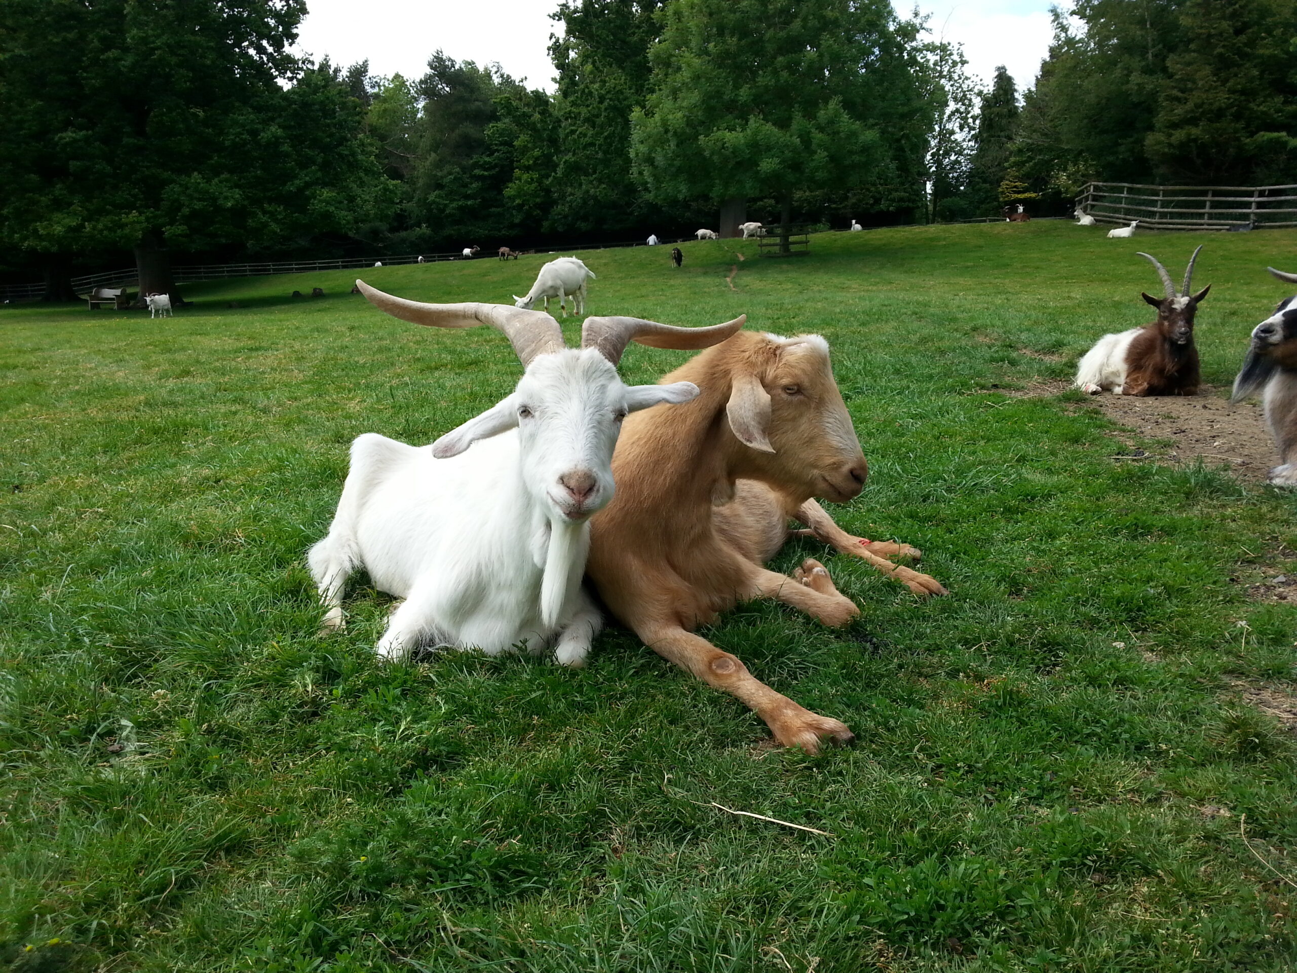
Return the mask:
[[693,402],[626,416],[617,493],[591,520],[586,575],[645,645],[756,710],[779,743],[816,752],[825,737],[850,741],[844,724],[776,693],[691,629],[759,597],[826,625],[860,614],[817,560],[792,577],[764,567],[789,518],[916,594],[946,589],[879,557],[917,550],[852,537],[812,499],[848,501],[869,472],[822,337],[741,331],[663,379],[686,380],[702,389]]

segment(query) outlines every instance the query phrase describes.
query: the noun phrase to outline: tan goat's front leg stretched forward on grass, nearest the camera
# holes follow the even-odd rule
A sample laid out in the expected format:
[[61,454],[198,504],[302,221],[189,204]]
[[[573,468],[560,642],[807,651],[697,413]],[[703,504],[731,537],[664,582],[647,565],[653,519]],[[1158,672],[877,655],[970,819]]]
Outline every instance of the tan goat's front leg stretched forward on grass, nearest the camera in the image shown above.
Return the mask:
[[844,723],[813,714],[776,693],[752,676],[737,656],[722,653],[693,632],[678,625],[658,624],[636,627],[636,633],[664,659],[694,673],[713,689],[737,697],[756,711],[770,728],[774,739],[786,747],[802,747],[808,754],[817,754],[826,739],[838,743],[853,739]]

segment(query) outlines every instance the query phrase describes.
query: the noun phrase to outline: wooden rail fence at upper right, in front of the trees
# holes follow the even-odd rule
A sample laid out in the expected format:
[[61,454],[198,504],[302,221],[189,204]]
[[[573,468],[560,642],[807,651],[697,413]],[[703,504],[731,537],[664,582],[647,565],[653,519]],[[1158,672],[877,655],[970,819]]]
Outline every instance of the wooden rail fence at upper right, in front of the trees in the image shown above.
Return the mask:
[[1100,223],[1150,230],[1297,226],[1297,186],[1087,183],[1077,206]]

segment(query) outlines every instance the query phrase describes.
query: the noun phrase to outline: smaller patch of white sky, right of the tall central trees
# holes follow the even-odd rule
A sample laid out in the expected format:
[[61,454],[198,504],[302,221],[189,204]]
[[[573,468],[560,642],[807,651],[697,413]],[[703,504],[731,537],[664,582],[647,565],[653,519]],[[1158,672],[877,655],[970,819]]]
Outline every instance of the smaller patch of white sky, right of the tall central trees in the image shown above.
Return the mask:
[[[1030,88],[1049,54],[1053,23],[1049,0],[920,0],[934,38],[964,45],[969,73],[990,86],[1004,65],[1021,93]],[[908,16],[896,0],[896,12]]]

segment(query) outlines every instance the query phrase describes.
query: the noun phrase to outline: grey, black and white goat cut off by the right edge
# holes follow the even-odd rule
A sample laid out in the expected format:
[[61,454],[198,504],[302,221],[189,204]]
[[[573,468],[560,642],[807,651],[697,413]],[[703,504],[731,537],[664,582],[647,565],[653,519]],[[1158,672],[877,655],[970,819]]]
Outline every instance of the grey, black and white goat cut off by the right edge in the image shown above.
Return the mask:
[[[1297,274],[1266,270],[1297,284]],[[1230,401],[1237,402],[1259,388],[1265,388],[1266,426],[1280,461],[1266,479],[1275,486],[1297,486],[1297,297],[1280,301],[1275,313],[1252,330],[1252,346],[1233,380]]]

